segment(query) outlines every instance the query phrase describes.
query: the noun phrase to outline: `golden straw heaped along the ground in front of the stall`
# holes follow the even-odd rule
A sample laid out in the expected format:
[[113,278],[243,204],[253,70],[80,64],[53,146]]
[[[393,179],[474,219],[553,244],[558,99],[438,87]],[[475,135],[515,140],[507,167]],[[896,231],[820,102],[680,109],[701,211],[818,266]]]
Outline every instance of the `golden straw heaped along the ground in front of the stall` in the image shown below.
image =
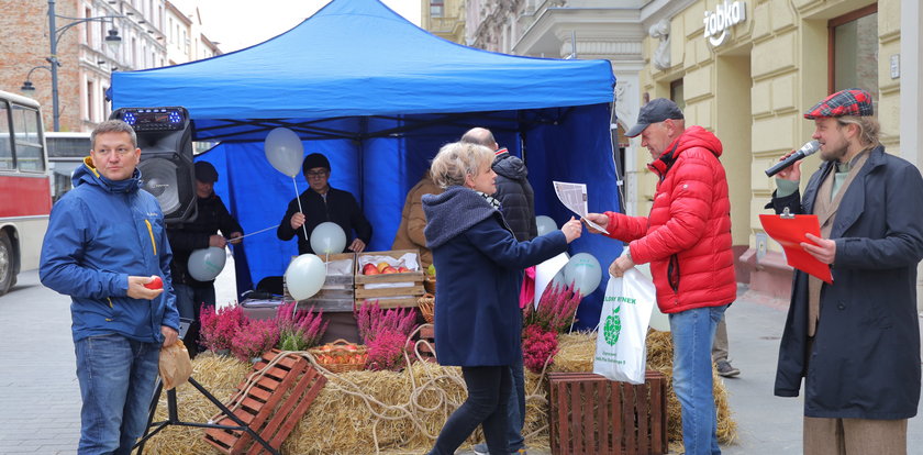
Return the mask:
[[[650,331],[647,339],[649,369],[672,374],[672,341],[668,332]],[[558,353],[548,371],[591,371],[596,335],[561,335]],[[226,401],[251,371],[248,363],[202,354],[193,362],[193,377],[219,400]],[[327,375],[327,385],[282,444],[287,454],[420,454],[429,451],[448,415],[467,397],[460,368],[416,362],[401,373],[351,371]],[[669,382],[668,382],[669,385]],[[546,377],[525,371],[526,418],[523,434],[534,448],[548,447],[548,397]],[[191,386],[178,389],[180,419],[205,422],[216,409]],[[668,386],[668,433],[671,448],[681,445],[679,402]],[[715,375],[719,441],[734,440],[736,423],[730,417],[727,393]],[[166,399],[162,399],[155,421],[164,420]],[[202,441],[202,431],[170,426],[152,437],[146,447],[157,454],[214,454]],[[480,431],[466,444],[482,441]]]

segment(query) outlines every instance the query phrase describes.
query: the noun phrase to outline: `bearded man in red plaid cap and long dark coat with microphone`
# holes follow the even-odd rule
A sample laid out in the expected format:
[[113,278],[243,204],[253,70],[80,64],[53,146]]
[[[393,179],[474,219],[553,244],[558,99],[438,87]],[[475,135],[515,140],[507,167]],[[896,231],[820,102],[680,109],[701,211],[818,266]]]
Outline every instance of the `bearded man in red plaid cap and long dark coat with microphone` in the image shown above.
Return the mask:
[[777,174],[766,208],[818,217],[821,236],[801,247],[833,284],[794,270],[775,392],[798,397],[804,380],[805,454],[903,455],[920,402],[923,179],[885,152],[867,91],[833,93],[804,118],[821,167],[803,196],[800,162]]

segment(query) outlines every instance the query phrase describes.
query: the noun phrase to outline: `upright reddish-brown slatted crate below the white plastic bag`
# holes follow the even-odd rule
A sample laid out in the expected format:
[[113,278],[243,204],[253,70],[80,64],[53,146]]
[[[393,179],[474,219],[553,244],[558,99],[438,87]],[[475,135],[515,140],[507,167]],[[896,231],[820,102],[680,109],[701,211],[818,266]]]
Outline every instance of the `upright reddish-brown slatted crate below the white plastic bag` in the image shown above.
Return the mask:
[[667,381],[648,370],[642,385],[592,373],[548,375],[552,453],[666,454]]

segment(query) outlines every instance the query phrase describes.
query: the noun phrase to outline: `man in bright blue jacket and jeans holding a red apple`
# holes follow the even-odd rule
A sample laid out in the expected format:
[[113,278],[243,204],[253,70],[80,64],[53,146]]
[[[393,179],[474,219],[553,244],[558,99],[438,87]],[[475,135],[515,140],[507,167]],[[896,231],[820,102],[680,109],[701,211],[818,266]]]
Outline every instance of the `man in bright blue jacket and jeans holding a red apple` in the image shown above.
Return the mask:
[[173,255],[160,206],[141,189],[134,130],[110,120],[90,141],[74,190],[52,210],[40,277],[71,298],[84,401],[77,452],[127,454],[147,423],[160,346],[178,336]]

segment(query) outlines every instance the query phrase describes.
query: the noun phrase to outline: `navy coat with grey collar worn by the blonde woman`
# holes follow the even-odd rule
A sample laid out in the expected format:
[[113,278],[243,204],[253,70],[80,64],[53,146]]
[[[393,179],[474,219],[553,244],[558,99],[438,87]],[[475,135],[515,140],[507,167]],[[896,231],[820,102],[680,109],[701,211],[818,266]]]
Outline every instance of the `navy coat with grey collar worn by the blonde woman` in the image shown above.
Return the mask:
[[435,343],[441,365],[512,365],[521,355],[522,269],[567,251],[561,231],[518,242],[474,190],[423,196],[436,268]]

